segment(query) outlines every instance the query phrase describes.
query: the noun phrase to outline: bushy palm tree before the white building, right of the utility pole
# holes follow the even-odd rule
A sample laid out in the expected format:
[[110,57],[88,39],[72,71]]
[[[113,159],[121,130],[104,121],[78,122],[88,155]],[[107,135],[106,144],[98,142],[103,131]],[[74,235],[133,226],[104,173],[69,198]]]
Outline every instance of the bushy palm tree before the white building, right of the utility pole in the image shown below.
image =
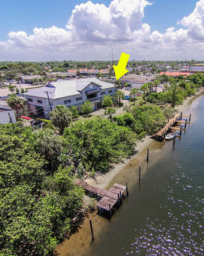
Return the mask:
[[69,126],[72,116],[71,111],[62,105],[57,105],[55,109],[50,113],[52,124],[59,129],[59,132],[62,134],[64,129]]

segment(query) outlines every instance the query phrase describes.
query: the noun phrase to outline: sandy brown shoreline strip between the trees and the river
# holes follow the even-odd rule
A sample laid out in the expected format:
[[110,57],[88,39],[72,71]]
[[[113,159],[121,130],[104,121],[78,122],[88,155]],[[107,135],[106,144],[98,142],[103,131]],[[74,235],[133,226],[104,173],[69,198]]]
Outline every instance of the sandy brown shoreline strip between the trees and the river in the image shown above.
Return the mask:
[[[187,105],[191,102],[191,100],[194,100],[196,97],[204,93],[204,88],[201,88],[200,92],[197,92],[195,95],[192,95],[191,97],[187,97],[186,100],[184,100],[183,104],[177,106],[175,108],[176,111],[183,111]],[[184,113],[186,114],[186,113]],[[138,150],[138,153],[132,156],[129,159],[126,159],[124,163],[115,164],[113,169],[104,174],[104,175],[97,175],[95,179],[89,178],[85,179],[89,184],[98,186],[99,188],[108,189],[112,186],[112,184],[116,181],[119,184],[120,180],[124,181],[128,180],[130,182],[132,179],[137,179],[138,177],[138,170],[135,171],[135,166],[138,164],[142,165],[145,168],[146,163],[146,154],[147,154],[147,148],[150,148],[150,150],[156,150],[157,147],[161,147],[161,142],[154,141],[150,139],[150,136],[146,136],[143,141],[140,141],[137,146],[136,150]],[[135,176],[133,176],[133,173]],[[145,172],[144,172],[145,173]],[[142,175],[144,174],[142,172]],[[89,227],[89,219],[92,220],[93,228],[94,228],[94,236],[96,237],[96,240],[99,239],[100,236],[103,236],[103,232],[106,231],[107,225],[106,222],[111,222],[112,219],[114,219],[114,216],[112,216],[112,219],[106,220],[105,218],[100,218],[97,214],[97,211],[94,211],[92,213],[89,213],[89,216],[85,217],[84,223],[80,225],[77,232],[75,234],[72,234],[69,239],[64,239],[62,243],[58,244],[55,248],[55,252],[57,255],[61,256],[75,256],[80,255],[84,256],[85,252],[89,251],[90,246],[94,246],[94,241],[91,241],[90,234],[90,227]],[[108,226],[109,227],[109,226]],[[102,229],[101,229],[102,228]],[[103,231],[102,231],[103,230]],[[88,237],[87,237],[88,234]],[[83,252],[82,252],[83,248]]]

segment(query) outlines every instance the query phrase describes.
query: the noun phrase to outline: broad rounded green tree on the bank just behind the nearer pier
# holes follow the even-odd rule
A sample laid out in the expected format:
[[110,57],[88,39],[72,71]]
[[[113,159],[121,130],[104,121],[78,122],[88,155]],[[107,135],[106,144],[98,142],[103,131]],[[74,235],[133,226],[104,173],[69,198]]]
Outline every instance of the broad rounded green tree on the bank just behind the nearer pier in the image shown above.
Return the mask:
[[[78,120],[64,131],[62,158],[72,163],[74,172],[108,172],[111,163],[133,154],[136,135],[106,118]],[[66,159],[67,157],[67,159]]]

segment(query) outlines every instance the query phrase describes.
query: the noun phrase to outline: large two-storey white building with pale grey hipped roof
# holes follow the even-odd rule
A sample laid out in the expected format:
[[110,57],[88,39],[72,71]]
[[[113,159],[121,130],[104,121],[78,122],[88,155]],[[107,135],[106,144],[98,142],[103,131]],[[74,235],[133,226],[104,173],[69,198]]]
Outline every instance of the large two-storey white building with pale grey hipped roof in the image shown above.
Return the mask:
[[[59,80],[24,93],[30,115],[49,118],[51,108],[57,105],[76,106],[78,109],[86,100],[92,102],[93,110],[101,108],[105,95],[115,94],[114,84],[95,77],[79,80]],[[50,108],[51,106],[51,108]]]

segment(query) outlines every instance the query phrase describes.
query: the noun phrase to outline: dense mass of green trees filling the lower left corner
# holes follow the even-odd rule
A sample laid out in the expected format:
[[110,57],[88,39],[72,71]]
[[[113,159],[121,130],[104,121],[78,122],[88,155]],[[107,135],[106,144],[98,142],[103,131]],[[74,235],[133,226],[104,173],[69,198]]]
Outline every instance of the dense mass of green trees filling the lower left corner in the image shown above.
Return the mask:
[[0,124],[0,255],[49,255],[82,208],[71,167],[48,175],[36,136],[31,127]]

